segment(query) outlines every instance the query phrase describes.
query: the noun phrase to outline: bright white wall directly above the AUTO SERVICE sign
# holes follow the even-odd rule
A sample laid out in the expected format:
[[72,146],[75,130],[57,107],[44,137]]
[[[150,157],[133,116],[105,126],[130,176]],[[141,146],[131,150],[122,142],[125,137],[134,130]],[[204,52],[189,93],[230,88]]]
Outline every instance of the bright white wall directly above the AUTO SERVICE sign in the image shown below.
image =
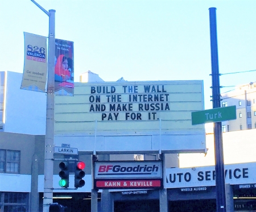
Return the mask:
[[[224,132],[222,134],[224,163],[238,164],[256,162],[256,129]],[[207,155],[204,153],[180,154],[180,167],[203,167],[215,165],[214,135],[206,135]]]

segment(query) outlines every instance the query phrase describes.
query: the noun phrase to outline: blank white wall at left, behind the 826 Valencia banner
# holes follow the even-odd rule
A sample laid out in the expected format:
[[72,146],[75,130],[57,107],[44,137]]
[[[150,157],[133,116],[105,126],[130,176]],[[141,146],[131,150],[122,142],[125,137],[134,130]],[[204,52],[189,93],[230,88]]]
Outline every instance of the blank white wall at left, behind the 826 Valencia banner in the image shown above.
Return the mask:
[[5,132],[46,134],[46,93],[20,89],[22,73],[7,72]]

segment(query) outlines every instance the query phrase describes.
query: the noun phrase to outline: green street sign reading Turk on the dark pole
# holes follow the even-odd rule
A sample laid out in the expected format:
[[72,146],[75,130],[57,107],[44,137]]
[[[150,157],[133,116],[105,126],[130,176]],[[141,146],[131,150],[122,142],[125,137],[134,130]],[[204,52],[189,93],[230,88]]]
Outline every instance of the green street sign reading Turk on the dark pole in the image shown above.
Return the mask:
[[192,125],[237,119],[236,106],[218,107],[191,113]]

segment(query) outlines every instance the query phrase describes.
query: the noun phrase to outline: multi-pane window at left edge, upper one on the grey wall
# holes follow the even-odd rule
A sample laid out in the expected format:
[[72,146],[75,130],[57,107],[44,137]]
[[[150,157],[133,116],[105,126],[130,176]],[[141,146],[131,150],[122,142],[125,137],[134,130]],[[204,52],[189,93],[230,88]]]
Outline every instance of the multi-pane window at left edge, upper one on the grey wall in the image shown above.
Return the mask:
[[20,152],[0,149],[0,172],[19,173]]

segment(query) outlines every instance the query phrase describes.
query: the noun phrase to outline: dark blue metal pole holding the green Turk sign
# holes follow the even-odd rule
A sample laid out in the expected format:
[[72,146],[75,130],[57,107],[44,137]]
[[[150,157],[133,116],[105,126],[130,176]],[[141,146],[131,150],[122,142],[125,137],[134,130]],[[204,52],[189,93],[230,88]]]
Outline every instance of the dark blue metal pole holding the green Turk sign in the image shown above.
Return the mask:
[[[212,59],[212,101],[213,108],[220,107],[220,73],[218,71],[218,45],[216,8],[209,8],[210,16],[210,52]],[[216,203],[217,212],[226,212],[226,190],[224,173],[224,154],[222,145],[221,122],[214,123],[214,150],[216,172]]]

